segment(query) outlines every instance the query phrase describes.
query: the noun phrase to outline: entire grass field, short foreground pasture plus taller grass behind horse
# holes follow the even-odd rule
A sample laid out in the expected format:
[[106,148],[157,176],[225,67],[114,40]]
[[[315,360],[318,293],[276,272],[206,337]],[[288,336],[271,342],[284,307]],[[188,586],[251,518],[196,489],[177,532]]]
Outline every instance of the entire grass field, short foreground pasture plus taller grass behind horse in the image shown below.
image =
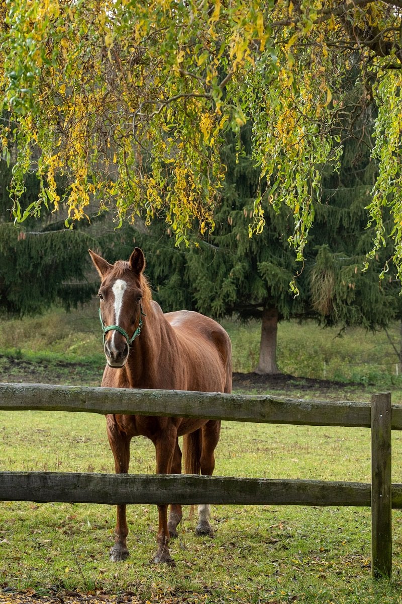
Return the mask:
[[[30,379],[34,375],[39,381],[98,385],[103,366],[101,335],[92,310],[96,313],[94,307],[81,318],[80,313],[66,316],[54,311],[36,320],[0,324],[1,370],[7,381],[34,381]],[[235,370],[250,371],[258,349],[257,326],[226,326],[233,339]],[[386,387],[392,390],[394,402],[402,401],[385,335],[358,330],[342,340],[333,335],[312,325],[284,324],[279,333],[281,369],[324,377],[319,363],[326,355],[325,370],[338,367],[337,379],[344,382],[342,391],[335,387],[328,396],[369,400],[370,393]],[[395,341],[397,336],[395,326]],[[361,364],[356,362],[353,371],[360,367],[360,377],[350,367],[350,359],[356,357]],[[369,362],[373,359],[384,363]],[[388,369],[385,361],[390,361]],[[349,387],[352,379],[359,385]],[[302,387],[286,394],[304,396]],[[4,469],[113,471],[101,416],[0,412],[0,420]],[[392,480],[402,482],[402,434],[394,433],[392,444]],[[154,472],[154,451],[148,440],[133,440],[131,471]],[[226,422],[215,474],[369,482],[369,431]],[[122,564],[112,564],[107,556],[115,524],[112,506],[2,502],[0,509],[0,586],[7,597],[13,590],[37,595],[80,590],[143,604],[402,602],[402,513],[396,510],[393,578],[372,583],[368,508],[213,506],[215,539],[197,538],[195,521],[188,519],[185,509],[171,548],[177,562],[174,569],[149,562],[157,530],[154,506],[130,507],[131,554]]]

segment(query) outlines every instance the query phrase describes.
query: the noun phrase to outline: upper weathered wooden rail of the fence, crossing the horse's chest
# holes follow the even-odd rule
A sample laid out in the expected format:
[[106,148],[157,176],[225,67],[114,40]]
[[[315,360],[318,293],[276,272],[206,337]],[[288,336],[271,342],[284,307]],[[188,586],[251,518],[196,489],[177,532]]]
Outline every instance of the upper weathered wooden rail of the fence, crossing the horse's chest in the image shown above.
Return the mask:
[[[365,402],[52,384],[0,384],[0,410],[121,413],[300,426],[371,427],[371,405]],[[402,430],[402,406],[392,407],[392,429]]]

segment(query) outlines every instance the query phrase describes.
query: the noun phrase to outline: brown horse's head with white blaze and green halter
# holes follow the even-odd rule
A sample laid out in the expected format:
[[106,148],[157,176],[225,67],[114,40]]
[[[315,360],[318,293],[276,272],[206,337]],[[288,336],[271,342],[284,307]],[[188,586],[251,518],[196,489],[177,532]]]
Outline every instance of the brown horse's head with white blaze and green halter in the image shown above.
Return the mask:
[[142,327],[145,258],[142,250],[136,248],[128,262],[118,260],[111,265],[92,250],[88,251],[101,277],[99,317],[107,364],[114,368],[123,367],[131,343],[139,336]]

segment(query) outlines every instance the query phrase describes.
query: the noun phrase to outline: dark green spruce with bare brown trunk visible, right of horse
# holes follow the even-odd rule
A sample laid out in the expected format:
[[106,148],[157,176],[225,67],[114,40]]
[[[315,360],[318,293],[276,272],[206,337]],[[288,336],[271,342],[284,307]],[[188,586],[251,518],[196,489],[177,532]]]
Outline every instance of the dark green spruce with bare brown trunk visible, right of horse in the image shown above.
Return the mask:
[[[243,148],[249,147],[248,141],[245,139]],[[186,253],[190,288],[197,310],[203,313],[217,318],[234,314],[243,321],[254,318],[261,322],[255,371],[275,374],[279,373],[278,321],[308,316],[308,292],[300,282],[300,295],[289,295],[289,282],[297,271],[287,242],[292,232],[289,211],[282,207],[276,212],[268,206],[262,233],[248,236],[259,170],[253,167],[250,155],[236,157],[235,147],[234,143],[228,144],[223,156],[227,177],[216,211],[215,231],[199,249]]]

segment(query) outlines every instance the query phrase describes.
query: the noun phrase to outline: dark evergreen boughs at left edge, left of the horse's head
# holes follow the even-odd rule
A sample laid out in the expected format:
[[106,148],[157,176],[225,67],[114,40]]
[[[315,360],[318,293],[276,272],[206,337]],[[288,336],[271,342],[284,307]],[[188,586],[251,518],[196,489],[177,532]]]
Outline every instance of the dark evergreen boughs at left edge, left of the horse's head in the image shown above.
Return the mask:
[[[87,301],[95,291],[86,278],[87,249],[93,238],[84,228],[65,229],[63,220],[58,217],[55,222],[50,213],[16,228],[4,185],[10,173],[11,167],[0,161],[0,308],[7,315],[22,316],[56,302],[69,309]],[[38,193],[36,175],[28,174],[25,201],[36,199]]]

